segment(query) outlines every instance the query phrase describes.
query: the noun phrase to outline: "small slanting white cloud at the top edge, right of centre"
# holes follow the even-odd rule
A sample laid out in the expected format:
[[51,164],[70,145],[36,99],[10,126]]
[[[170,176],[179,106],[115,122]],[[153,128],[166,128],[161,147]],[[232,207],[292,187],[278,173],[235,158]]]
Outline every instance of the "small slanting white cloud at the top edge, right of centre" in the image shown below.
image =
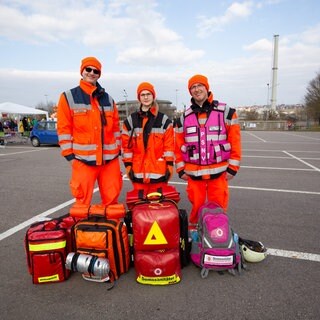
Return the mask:
[[253,7],[253,1],[244,1],[242,3],[234,2],[227,8],[222,16],[212,18],[199,16],[198,20],[200,22],[197,25],[197,35],[200,38],[206,38],[214,32],[221,31],[223,27],[229,23],[250,16]]

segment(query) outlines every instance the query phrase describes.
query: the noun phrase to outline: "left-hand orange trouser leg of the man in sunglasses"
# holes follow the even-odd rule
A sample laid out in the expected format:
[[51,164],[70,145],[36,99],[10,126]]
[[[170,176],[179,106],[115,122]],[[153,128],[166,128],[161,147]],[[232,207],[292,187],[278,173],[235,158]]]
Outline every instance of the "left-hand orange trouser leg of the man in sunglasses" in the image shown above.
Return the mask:
[[70,189],[76,202],[90,204],[95,182],[97,180],[97,167],[88,166],[81,161],[72,161]]

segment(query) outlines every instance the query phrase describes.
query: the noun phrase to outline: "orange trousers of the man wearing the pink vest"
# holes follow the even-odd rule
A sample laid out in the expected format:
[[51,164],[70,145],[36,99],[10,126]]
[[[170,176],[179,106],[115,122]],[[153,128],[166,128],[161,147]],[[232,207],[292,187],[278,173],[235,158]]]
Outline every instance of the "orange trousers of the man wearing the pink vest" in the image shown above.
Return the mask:
[[189,216],[191,227],[192,224],[198,223],[199,208],[206,200],[216,202],[224,210],[227,210],[229,191],[225,176],[225,174],[222,174],[219,178],[213,180],[188,180],[187,194],[192,204]]

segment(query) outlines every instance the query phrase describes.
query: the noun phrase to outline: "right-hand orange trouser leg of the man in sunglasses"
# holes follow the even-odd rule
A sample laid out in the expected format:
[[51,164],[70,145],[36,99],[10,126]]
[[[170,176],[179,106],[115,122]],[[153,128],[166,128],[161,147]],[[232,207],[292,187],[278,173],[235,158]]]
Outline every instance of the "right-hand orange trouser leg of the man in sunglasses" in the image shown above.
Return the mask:
[[109,205],[118,202],[122,183],[122,174],[118,158],[103,166],[99,166],[98,185],[102,204]]

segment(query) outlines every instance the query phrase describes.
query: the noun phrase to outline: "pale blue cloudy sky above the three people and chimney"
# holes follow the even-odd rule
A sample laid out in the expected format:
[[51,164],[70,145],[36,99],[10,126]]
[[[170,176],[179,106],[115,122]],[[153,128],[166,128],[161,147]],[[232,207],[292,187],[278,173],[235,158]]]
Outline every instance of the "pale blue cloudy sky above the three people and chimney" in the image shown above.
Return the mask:
[[57,102],[95,56],[116,101],[149,81],[181,109],[202,73],[217,100],[265,105],[274,35],[277,104],[303,103],[320,71],[319,12],[319,0],[0,0],[0,103]]

